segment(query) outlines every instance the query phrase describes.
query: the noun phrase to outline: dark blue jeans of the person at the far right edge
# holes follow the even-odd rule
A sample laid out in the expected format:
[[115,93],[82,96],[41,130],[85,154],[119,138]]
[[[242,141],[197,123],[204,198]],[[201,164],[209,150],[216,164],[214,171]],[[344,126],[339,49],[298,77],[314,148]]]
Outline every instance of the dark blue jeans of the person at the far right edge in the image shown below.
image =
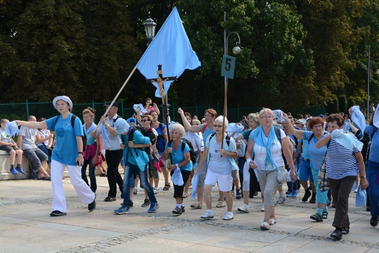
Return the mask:
[[379,174],[379,162],[368,161],[366,176],[368,182],[369,202],[371,206],[371,216],[379,216],[379,185],[374,181]]

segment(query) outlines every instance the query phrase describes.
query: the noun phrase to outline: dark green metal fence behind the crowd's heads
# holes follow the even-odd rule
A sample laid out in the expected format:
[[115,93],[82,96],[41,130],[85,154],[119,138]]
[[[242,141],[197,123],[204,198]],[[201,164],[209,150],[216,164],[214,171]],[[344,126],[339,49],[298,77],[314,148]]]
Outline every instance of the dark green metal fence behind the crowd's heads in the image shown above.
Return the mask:
[[[125,108],[124,100],[117,101],[118,103],[118,114],[127,119],[135,114],[133,108]],[[94,121],[99,122],[100,117],[105,113],[104,103],[101,102],[92,102],[74,104],[72,108],[72,113],[78,115],[81,118],[81,112],[88,106],[97,110]],[[199,120],[204,116],[204,111],[208,108],[213,108],[217,111],[218,115],[222,115],[223,107],[222,105],[195,105],[191,107],[182,107],[183,111],[191,113],[191,115],[198,115]],[[160,121],[163,122],[163,109],[160,108],[161,114]],[[179,114],[177,113],[178,107],[174,104],[169,107],[169,115],[171,120],[178,121]],[[227,118],[229,122],[239,122],[242,119],[242,116],[247,116],[249,113],[258,112],[260,108],[258,106],[251,107],[236,107],[227,109]],[[312,116],[318,116],[319,114],[325,114],[325,106],[317,105],[307,108],[294,108],[288,110],[292,113],[294,117],[297,117],[298,114],[310,114]],[[0,118],[8,118],[10,121],[15,119],[26,120],[29,115],[34,115],[37,119],[40,117],[50,118],[57,115],[58,112],[52,105],[52,102],[28,102],[27,100],[24,103],[10,103],[10,104],[0,104]]]

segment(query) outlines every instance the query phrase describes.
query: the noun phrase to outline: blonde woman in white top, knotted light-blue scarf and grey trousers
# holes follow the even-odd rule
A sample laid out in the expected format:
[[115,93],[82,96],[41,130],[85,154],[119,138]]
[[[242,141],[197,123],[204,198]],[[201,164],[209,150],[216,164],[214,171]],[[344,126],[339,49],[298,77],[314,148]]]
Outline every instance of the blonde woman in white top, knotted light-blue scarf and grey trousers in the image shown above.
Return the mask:
[[[260,226],[262,230],[269,230],[270,225],[276,223],[274,191],[279,183],[287,181],[286,175],[288,175],[282,154],[288,161],[292,160],[292,152],[289,147],[290,137],[272,125],[273,118],[272,110],[263,108],[260,111],[261,125],[251,132],[246,151],[246,162],[249,166],[253,169],[259,168],[259,185],[264,195],[264,221]],[[253,151],[254,160],[252,160]],[[294,163],[290,162],[288,166],[291,170],[291,180],[295,182]]]

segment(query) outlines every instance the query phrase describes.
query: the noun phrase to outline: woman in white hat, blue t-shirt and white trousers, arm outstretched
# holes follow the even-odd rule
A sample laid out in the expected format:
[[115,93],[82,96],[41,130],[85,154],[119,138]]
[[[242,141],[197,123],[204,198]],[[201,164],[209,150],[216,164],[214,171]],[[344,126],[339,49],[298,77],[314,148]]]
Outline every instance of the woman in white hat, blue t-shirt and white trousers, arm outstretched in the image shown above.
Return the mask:
[[71,113],[72,102],[69,97],[58,96],[53,100],[54,107],[61,113],[44,121],[20,121],[17,125],[27,128],[50,129],[56,132],[56,146],[52,154],[53,212],[51,216],[63,216],[66,213],[66,197],[62,176],[67,166],[70,180],[83,204],[88,204],[89,212],[96,208],[96,195],[81,178],[83,165],[83,128],[80,119]]

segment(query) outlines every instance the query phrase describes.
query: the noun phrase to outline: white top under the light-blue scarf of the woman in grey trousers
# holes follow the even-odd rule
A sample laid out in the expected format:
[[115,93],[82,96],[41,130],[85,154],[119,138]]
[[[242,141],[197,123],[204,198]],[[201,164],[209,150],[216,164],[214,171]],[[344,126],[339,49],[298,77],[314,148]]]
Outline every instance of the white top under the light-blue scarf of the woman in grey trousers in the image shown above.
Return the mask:
[[[281,139],[286,138],[286,133],[280,129],[280,137]],[[268,138],[265,138],[266,140]],[[276,135],[273,138],[273,143],[271,144],[271,156],[273,160],[275,161],[276,165],[278,167],[284,166],[285,163],[283,161],[283,158],[281,157],[281,144],[279,140],[277,139]],[[257,163],[258,168],[262,171],[272,171],[275,169],[273,166],[265,167],[265,160],[266,160],[266,148],[259,146],[257,143],[254,143],[254,154],[255,158],[254,161]]]

